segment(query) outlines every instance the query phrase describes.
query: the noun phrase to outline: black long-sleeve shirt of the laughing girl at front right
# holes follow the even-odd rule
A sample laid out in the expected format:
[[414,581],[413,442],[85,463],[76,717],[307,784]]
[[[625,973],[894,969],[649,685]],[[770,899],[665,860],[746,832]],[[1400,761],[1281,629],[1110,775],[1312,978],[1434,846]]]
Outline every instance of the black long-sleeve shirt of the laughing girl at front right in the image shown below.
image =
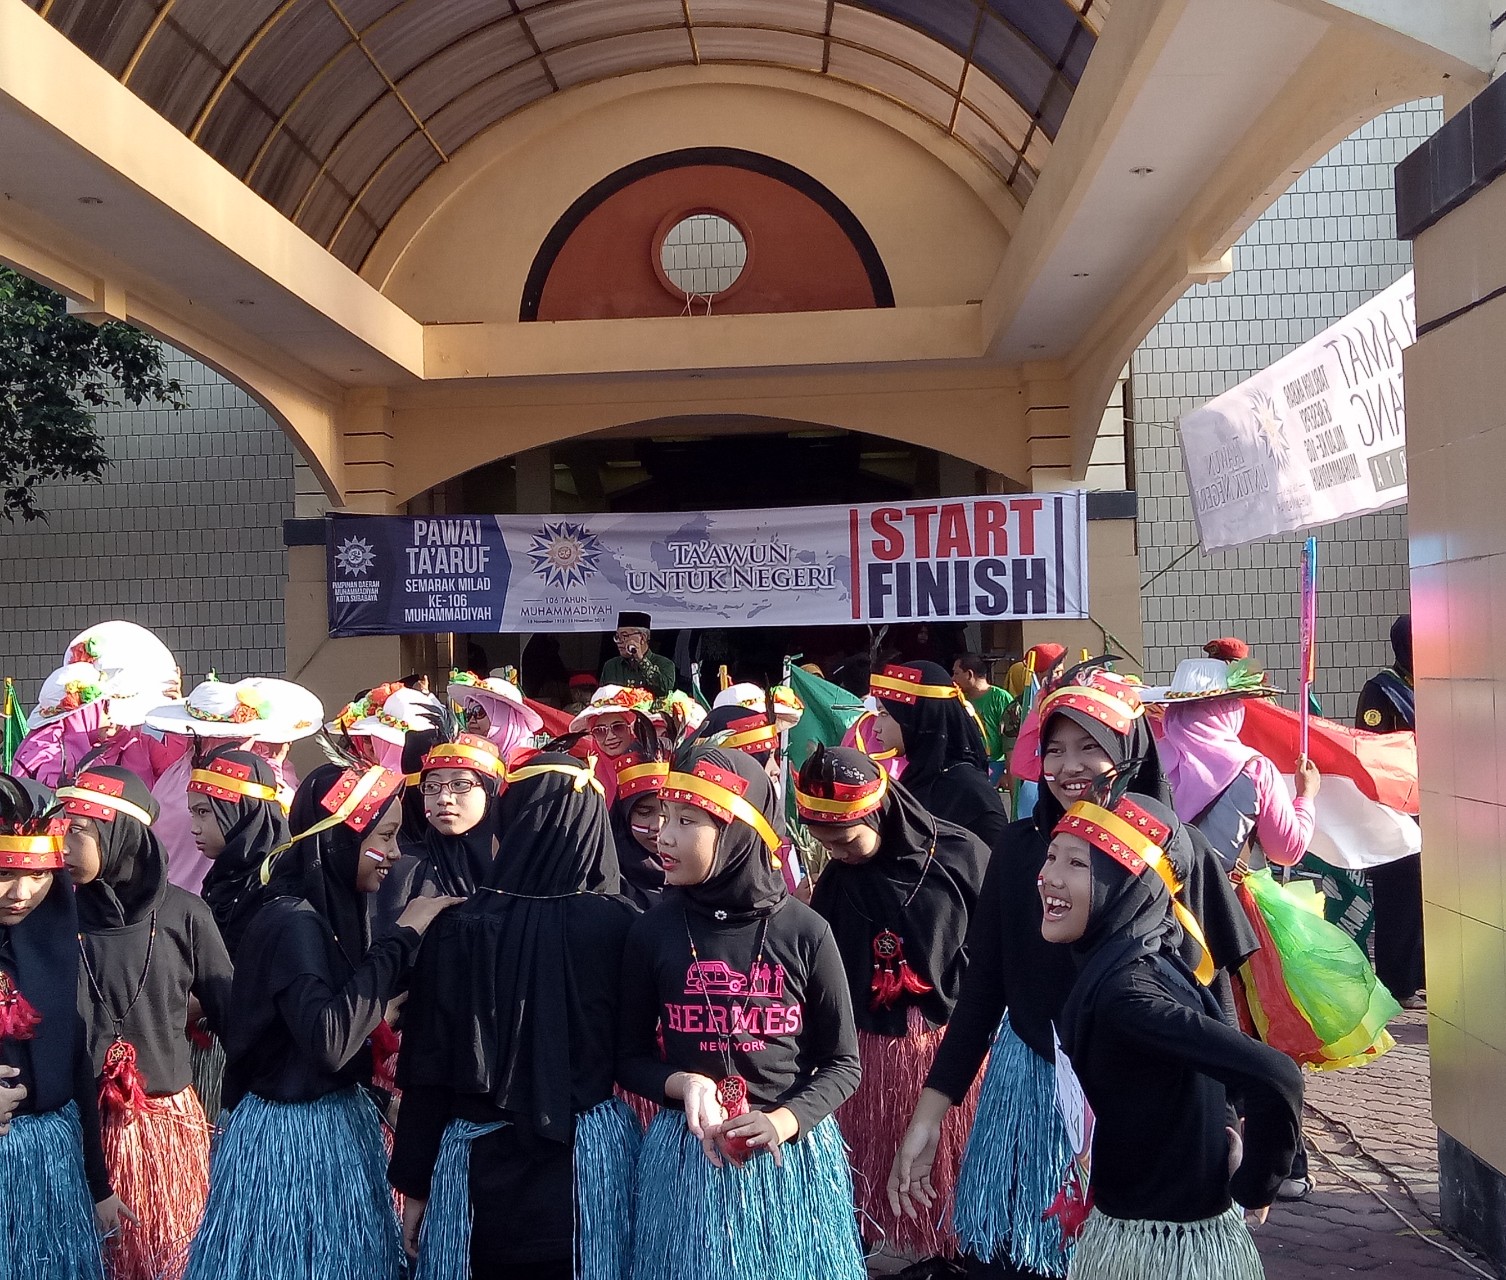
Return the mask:
[[[1104,979],[1072,1066],[1096,1116],[1092,1191],[1111,1218],[1191,1223],[1230,1199],[1261,1209],[1291,1172],[1303,1107],[1297,1065],[1202,1012],[1158,958]],[[1229,1104],[1244,1163],[1229,1178]]]

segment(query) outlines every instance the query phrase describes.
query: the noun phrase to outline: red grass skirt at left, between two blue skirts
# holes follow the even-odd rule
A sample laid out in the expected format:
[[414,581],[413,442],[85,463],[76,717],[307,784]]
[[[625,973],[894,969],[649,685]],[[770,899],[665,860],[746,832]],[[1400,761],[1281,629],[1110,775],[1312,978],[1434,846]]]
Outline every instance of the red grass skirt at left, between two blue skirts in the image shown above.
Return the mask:
[[101,1116],[116,1194],[140,1220],[105,1242],[114,1280],[179,1280],[209,1194],[209,1123],[193,1089]]

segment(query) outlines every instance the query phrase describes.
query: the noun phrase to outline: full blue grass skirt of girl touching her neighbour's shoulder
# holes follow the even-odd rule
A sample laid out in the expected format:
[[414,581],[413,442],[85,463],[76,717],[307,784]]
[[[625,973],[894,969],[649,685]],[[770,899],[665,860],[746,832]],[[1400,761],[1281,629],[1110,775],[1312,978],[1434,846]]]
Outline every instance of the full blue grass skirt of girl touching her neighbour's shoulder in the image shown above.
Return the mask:
[[184,1280],[399,1280],[405,1268],[381,1120],[364,1090],[313,1102],[247,1093],[209,1160]]

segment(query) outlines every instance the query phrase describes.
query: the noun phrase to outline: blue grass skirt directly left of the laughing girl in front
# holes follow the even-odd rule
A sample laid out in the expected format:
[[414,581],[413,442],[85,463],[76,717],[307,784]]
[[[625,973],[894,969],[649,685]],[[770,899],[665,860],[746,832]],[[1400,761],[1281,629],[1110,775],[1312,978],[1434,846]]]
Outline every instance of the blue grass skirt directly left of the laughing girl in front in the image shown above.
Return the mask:
[[1005,1018],[956,1178],[952,1224],[959,1248],[982,1262],[1066,1275],[1071,1253],[1062,1227],[1044,1215],[1071,1160],[1056,1110],[1056,1069]]

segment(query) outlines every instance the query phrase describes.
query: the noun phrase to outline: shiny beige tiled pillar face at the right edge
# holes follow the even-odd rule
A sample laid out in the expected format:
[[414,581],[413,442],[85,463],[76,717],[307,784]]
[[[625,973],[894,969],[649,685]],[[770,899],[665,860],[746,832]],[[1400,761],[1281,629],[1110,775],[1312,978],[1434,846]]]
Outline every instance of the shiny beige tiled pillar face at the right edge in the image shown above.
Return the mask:
[[1405,358],[1434,1114],[1506,1172],[1506,179],[1414,253],[1455,315]]

